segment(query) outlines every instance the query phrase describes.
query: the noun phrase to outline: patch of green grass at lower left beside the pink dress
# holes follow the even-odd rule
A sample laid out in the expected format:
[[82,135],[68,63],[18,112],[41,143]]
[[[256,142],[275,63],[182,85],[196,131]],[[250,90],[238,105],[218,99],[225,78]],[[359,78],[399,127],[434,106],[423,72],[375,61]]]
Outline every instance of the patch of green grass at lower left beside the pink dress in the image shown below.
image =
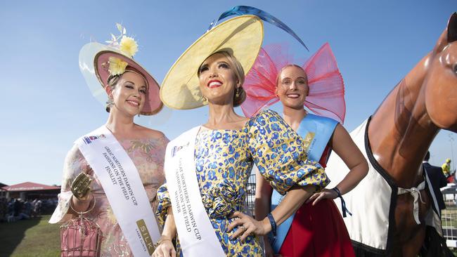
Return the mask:
[[0,256],[60,256],[59,225],[49,218],[0,223]]

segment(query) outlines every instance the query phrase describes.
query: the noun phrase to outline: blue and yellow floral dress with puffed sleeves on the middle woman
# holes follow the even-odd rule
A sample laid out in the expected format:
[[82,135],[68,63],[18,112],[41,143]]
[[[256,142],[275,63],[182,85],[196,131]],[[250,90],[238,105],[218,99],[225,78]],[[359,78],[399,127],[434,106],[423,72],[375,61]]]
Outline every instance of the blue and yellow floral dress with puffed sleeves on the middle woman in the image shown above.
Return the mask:
[[[226,232],[234,211],[246,213],[247,179],[253,164],[281,194],[293,185],[329,183],[321,166],[307,159],[302,138],[276,112],[264,110],[240,130],[200,130],[195,139],[200,194],[227,256],[263,255],[257,237],[240,242]],[[157,201],[157,217],[163,225],[171,206],[167,184],[159,188]],[[176,251],[180,253],[179,244]]]

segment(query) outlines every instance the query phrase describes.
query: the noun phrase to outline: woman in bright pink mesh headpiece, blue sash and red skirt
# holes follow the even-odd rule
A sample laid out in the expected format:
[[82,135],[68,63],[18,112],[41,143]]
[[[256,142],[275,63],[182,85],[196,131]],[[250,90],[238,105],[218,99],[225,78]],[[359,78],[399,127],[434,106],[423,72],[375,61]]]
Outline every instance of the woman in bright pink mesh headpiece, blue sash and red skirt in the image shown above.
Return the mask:
[[[302,67],[290,64],[281,46],[267,46],[247,74],[247,117],[281,100],[285,121],[307,142],[309,159],[326,166],[331,150],[350,172],[333,189],[316,192],[283,224],[276,237],[264,238],[266,256],[354,256],[345,223],[333,202],[366,176],[368,164],[340,124],[345,119],[344,84],[335,57],[324,44]],[[304,109],[306,106],[315,114]],[[255,216],[262,219],[283,196],[257,175]],[[342,201],[343,216],[347,209]]]

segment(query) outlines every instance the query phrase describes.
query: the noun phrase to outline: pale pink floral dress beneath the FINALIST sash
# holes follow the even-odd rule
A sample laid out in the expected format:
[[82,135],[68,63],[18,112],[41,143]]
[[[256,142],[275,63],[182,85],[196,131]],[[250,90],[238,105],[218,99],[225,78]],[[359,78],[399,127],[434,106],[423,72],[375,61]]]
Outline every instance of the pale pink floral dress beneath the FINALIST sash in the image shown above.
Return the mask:
[[[162,138],[119,141],[134,162],[146,190],[146,195],[148,195],[151,208],[153,209],[155,209],[154,204],[157,188],[165,181],[163,164],[168,142],[169,140],[165,136]],[[84,217],[94,221],[101,228],[103,233],[101,256],[132,256],[127,238],[122,234],[116,217],[112,213],[103,187],[94,171],[90,169],[82,153],[79,152],[77,145],[72,147],[65,158],[62,189],[58,197],[58,206],[49,223],[63,223],[71,218],[75,218],[75,216],[67,213],[72,198],[70,185],[83,170],[93,180],[91,183],[91,192],[96,197],[95,208],[89,213],[84,214]]]

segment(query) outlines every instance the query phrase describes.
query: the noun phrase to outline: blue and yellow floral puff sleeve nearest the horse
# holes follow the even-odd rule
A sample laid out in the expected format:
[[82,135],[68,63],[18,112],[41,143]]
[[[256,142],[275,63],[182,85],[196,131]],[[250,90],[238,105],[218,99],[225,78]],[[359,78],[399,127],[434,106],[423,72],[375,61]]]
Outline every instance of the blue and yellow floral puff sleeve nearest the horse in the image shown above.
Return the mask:
[[326,187],[330,180],[317,162],[307,159],[302,138],[278,113],[264,110],[247,124],[247,145],[259,173],[284,195],[294,185]]

